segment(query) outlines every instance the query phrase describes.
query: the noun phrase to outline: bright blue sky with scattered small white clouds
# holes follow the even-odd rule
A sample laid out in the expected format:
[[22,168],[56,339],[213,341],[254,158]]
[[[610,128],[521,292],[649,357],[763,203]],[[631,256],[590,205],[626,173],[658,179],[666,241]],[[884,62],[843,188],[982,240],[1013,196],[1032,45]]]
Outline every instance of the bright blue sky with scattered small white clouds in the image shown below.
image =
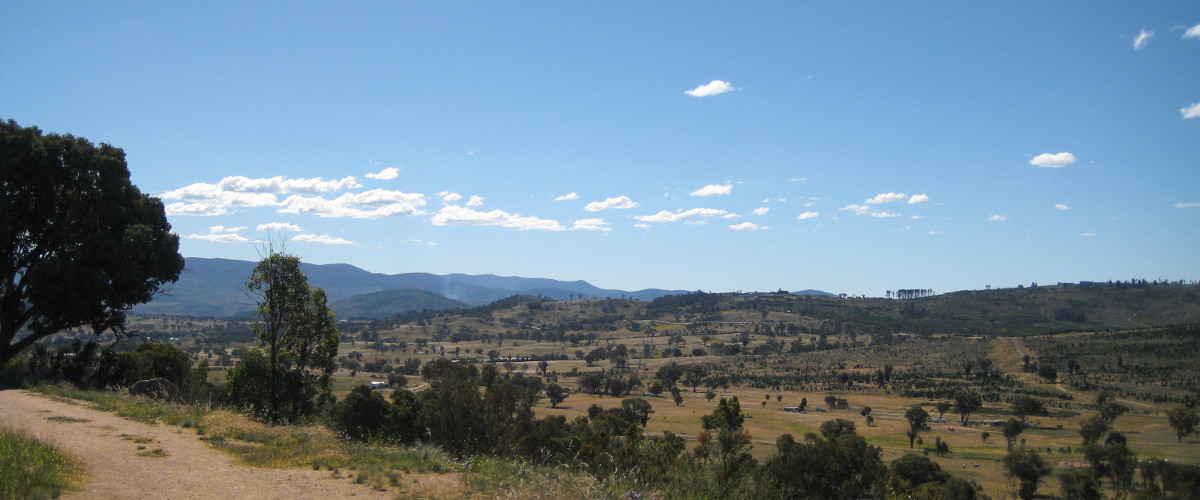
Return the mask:
[[1195,1],[8,1],[0,119],[124,149],[185,257],[866,296],[1200,278]]

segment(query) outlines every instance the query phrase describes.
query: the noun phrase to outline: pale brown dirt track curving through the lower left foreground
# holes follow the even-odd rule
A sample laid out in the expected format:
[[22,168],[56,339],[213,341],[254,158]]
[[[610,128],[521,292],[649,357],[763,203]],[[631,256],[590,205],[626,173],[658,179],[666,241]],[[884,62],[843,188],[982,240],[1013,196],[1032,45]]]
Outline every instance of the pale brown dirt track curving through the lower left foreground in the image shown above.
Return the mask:
[[[150,426],[25,391],[0,391],[0,423],[25,429],[84,464],[64,499],[390,499],[329,471],[239,465],[194,430]],[[143,447],[139,450],[139,446]],[[162,450],[160,456],[150,454]]]

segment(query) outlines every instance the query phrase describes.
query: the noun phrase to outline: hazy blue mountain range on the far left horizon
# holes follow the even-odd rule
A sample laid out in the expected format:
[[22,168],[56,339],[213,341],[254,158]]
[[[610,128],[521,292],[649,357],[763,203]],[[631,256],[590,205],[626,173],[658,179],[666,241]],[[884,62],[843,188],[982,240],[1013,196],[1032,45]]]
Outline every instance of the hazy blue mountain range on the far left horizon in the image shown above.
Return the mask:
[[[179,282],[163,290],[155,300],[133,309],[136,314],[167,314],[192,317],[248,315],[253,300],[246,294],[246,278],[258,263],[229,259],[186,259]],[[383,290],[415,289],[442,295],[467,306],[484,306],[511,295],[540,295],[556,300],[571,297],[605,299],[626,297],[654,300],[664,295],[677,295],[684,290],[646,289],[638,291],[607,290],[584,281],[563,282],[546,278],[518,278],[494,275],[430,275],[410,272],[380,275],[364,271],[349,264],[302,264],[308,282],[320,287],[331,305],[356,295]],[[364,311],[364,303],[379,303],[376,299],[352,301],[354,317],[377,317]],[[350,302],[344,302],[350,303]],[[334,308],[338,314],[338,309]],[[402,308],[395,301],[388,308]],[[419,307],[418,307],[419,308]],[[349,315],[338,314],[348,318]]]

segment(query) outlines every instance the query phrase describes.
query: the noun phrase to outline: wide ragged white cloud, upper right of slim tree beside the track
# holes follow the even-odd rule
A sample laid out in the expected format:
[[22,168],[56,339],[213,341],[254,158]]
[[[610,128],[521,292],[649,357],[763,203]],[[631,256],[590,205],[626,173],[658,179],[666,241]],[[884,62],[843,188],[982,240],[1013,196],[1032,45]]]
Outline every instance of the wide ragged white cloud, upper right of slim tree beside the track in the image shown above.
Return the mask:
[[319,217],[380,218],[400,215],[420,215],[426,204],[425,194],[400,191],[371,189],[346,193],[335,199],[301,197],[283,200],[280,213],[313,213]]

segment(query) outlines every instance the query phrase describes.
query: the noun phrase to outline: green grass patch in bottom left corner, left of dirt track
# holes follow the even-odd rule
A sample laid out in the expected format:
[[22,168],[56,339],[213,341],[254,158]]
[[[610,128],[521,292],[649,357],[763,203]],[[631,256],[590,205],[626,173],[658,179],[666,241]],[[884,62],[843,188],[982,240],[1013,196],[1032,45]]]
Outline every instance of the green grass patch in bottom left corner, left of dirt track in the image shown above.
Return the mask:
[[71,489],[83,468],[58,448],[0,427],[0,498],[53,499]]

